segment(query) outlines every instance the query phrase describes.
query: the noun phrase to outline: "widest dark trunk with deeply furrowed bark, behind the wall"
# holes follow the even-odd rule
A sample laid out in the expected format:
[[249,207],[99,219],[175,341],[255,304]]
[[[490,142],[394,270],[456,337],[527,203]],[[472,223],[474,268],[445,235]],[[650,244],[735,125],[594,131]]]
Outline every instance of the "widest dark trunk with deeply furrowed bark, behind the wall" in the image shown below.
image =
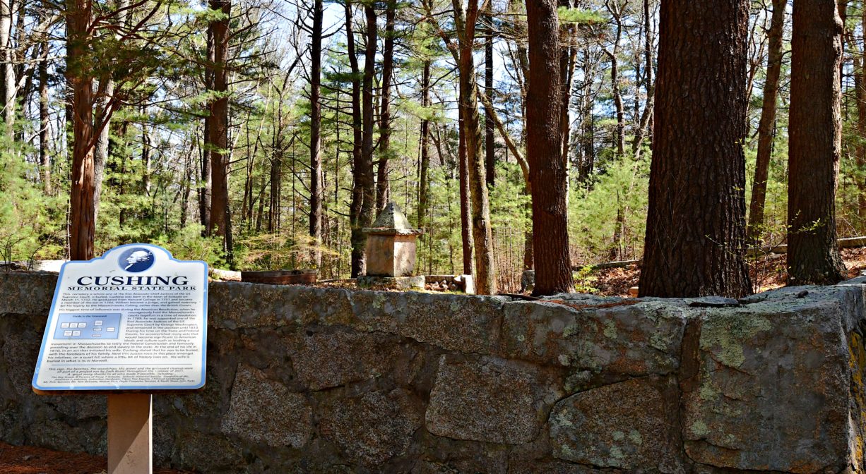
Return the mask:
[[641,296],[751,291],[742,149],[748,15],[747,0],[662,0]]

